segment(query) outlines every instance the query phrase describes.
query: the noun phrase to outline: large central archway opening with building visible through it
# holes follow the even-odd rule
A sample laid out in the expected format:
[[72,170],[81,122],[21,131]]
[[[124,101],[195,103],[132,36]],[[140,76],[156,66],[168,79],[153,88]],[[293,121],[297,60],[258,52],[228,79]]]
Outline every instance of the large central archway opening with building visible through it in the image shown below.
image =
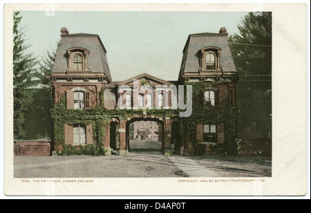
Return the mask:
[[158,118],[133,118],[126,122],[126,149],[133,151],[162,151],[164,122]]

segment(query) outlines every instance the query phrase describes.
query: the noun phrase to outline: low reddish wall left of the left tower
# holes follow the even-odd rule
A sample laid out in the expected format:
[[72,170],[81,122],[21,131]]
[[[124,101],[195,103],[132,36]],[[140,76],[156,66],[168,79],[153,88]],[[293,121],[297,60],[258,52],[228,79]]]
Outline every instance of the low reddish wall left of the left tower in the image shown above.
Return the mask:
[[17,156],[50,156],[50,140],[15,140]]

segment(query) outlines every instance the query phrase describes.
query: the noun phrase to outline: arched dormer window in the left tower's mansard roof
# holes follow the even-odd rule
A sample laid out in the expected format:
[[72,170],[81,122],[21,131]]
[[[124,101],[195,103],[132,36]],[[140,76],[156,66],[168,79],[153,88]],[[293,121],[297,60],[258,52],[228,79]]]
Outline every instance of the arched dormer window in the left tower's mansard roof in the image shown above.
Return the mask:
[[67,50],[68,53],[68,61],[67,61],[67,69],[66,71],[89,71],[88,70],[88,54],[90,51],[85,48],[70,48]]

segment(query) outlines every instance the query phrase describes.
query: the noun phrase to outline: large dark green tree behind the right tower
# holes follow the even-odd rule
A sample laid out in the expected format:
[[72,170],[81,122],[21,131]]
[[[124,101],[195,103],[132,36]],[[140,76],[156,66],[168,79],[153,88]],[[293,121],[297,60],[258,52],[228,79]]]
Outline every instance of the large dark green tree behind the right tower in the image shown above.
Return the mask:
[[238,137],[271,138],[272,133],[272,13],[249,12],[229,37],[239,74],[236,88]]

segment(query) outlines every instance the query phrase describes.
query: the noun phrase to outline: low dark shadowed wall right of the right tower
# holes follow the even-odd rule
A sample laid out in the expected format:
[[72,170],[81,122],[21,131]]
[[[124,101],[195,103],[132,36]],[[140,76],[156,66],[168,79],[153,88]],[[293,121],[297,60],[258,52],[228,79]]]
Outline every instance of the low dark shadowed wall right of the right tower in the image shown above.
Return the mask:
[[264,140],[236,140],[238,154],[272,156],[272,141]]

